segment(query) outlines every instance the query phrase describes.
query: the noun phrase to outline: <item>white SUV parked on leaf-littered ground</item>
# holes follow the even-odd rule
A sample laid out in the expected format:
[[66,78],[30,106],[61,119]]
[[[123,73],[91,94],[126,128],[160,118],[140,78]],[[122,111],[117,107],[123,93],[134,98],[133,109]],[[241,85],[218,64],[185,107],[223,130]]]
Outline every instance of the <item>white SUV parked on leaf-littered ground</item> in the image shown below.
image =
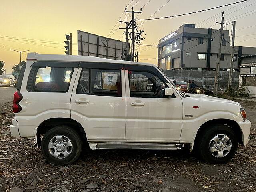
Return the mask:
[[16,87],[12,136],[35,137],[53,164],[74,162],[83,143],[93,150],[187,145],[210,163],[248,143],[251,123],[238,102],[180,92],[153,64],[29,53]]

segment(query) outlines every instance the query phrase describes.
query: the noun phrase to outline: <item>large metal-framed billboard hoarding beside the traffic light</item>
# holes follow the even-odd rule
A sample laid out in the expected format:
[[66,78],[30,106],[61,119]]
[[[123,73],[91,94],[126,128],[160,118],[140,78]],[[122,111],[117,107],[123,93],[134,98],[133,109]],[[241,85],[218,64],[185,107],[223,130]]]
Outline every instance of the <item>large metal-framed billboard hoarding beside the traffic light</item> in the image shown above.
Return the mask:
[[130,44],[77,30],[78,55],[126,60]]

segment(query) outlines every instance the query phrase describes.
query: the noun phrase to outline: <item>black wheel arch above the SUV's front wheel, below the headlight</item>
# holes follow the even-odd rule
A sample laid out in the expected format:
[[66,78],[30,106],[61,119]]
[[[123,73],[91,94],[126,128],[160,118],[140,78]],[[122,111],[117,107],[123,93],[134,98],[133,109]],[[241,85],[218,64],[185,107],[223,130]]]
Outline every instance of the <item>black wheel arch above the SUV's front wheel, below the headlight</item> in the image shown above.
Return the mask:
[[221,124],[221,125],[224,125],[224,126],[227,126],[227,127],[231,128],[235,132],[235,134],[237,135],[237,139],[238,139],[239,144],[243,144],[242,130],[241,130],[240,126],[237,124],[236,121],[230,120],[230,119],[213,119],[213,120],[209,120],[207,122],[204,122],[204,124],[202,124],[200,126],[200,128],[196,132],[196,136],[194,137],[194,140],[190,144],[190,152],[192,152],[194,146],[196,146],[196,142],[198,141],[198,138],[200,137],[200,133],[202,133],[202,130],[205,130],[207,128],[207,126],[213,125],[213,124]]

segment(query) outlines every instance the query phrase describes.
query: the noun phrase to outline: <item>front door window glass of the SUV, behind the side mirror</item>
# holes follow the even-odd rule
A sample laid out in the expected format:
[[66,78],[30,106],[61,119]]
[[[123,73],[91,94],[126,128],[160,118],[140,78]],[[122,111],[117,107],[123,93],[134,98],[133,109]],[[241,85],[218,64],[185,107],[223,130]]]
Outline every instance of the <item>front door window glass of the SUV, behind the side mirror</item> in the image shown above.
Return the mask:
[[130,96],[163,98],[166,84],[149,72],[129,71]]

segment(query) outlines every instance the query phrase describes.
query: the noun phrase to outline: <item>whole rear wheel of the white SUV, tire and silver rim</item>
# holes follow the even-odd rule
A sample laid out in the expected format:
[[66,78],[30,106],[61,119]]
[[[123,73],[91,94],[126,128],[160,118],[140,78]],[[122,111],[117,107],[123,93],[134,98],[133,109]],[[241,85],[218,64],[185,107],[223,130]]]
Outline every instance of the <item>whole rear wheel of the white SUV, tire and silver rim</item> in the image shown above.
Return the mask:
[[42,152],[48,162],[66,165],[75,162],[81,154],[82,140],[69,126],[55,126],[42,139]]

